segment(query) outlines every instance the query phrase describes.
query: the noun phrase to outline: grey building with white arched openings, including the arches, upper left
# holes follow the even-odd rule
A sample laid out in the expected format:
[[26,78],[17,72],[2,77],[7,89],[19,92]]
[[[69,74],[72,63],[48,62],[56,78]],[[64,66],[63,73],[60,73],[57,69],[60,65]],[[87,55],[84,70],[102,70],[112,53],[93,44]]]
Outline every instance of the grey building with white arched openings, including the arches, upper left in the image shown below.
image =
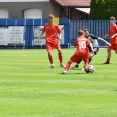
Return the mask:
[[[27,9],[31,12],[26,12]],[[37,17],[41,15],[40,17],[47,18],[50,14],[49,0],[0,0],[1,17],[4,18],[5,13],[8,18],[25,18],[28,14],[35,16],[36,13]]]

